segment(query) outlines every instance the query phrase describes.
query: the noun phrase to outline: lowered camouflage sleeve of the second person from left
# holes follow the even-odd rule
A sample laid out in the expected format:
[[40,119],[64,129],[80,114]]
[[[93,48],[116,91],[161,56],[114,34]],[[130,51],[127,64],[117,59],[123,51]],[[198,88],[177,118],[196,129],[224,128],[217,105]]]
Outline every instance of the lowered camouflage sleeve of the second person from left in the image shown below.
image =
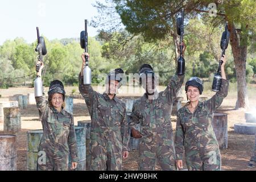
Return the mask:
[[121,137],[123,144],[123,151],[127,151],[128,143],[129,143],[129,124],[127,122],[126,109],[124,109],[123,113],[123,121],[121,122]]

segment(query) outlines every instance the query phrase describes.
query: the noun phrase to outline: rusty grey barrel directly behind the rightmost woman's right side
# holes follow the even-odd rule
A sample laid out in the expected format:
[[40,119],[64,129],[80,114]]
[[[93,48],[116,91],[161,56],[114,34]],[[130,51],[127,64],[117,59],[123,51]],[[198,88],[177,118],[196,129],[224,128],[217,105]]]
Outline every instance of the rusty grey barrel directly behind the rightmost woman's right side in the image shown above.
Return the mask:
[[212,125],[220,149],[228,148],[228,115],[214,113]]

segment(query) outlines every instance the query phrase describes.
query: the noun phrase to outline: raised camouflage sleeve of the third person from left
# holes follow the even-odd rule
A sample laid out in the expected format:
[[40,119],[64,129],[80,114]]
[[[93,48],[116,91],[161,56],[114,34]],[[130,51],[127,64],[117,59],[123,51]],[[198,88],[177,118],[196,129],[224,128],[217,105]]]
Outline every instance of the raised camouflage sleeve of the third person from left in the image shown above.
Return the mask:
[[163,96],[167,97],[167,101],[170,105],[175,100],[176,94],[183,84],[184,77],[185,74],[178,76],[176,73],[174,76],[172,76],[171,81],[169,82],[167,88],[164,90]]

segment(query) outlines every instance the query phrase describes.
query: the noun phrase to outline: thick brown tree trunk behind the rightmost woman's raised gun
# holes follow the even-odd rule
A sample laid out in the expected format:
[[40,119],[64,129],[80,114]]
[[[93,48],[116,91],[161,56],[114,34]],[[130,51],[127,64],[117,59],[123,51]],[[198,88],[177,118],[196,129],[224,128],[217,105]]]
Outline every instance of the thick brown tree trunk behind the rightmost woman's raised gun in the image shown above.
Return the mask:
[[233,22],[229,22],[230,44],[234,57],[236,76],[237,76],[237,102],[236,109],[249,107],[247,88],[246,88],[246,55],[247,55],[247,34],[241,34],[240,40]]

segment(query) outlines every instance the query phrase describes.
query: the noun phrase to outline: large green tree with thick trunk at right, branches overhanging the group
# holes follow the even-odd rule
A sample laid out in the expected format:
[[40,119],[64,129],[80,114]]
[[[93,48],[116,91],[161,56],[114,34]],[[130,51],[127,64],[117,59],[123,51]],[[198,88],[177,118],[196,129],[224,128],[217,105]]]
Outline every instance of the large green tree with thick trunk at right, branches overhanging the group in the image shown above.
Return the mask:
[[[184,7],[188,16],[208,16],[213,20],[213,26],[229,22],[230,45],[234,57],[237,76],[236,108],[247,107],[246,92],[246,56],[250,35],[254,35],[256,25],[254,0],[214,1],[217,4],[216,17],[209,17],[208,1],[146,1],[146,0],[113,0],[115,9],[126,26],[126,30],[145,40],[164,39],[171,34],[177,47],[175,34],[175,14]],[[187,16],[187,17],[188,17]],[[217,26],[216,26],[217,25]]]

